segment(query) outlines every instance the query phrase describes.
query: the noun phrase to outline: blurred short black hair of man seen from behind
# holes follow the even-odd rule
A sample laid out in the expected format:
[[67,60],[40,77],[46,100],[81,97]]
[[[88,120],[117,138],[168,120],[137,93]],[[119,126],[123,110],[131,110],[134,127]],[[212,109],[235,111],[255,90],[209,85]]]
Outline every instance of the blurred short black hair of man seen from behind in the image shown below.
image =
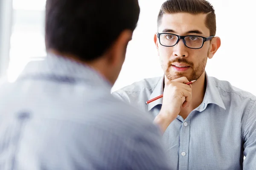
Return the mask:
[[122,31],[134,31],[139,14],[138,0],[47,0],[46,48],[93,61]]

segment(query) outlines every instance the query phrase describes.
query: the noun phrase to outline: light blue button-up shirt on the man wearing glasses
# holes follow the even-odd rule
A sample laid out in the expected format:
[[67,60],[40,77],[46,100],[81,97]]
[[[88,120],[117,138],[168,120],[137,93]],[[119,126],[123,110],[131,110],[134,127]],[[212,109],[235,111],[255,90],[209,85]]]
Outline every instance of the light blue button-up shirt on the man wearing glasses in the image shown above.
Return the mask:
[[[177,116],[163,134],[172,170],[256,170],[256,97],[206,75],[204,100],[184,120]],[[163,77],[143,79],[113,93],[148,112],[152,120],[163,98]],[[246,157],[245,159],[244,156]]]

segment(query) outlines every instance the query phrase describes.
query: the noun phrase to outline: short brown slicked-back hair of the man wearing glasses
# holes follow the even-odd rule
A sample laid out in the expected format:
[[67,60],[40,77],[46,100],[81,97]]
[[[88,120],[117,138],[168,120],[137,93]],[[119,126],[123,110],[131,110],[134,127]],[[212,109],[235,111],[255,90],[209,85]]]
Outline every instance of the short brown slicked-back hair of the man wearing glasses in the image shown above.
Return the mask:
[[210,36],[215,36],[215,10],[207,0],[167,0],[160,8],[157,17],[157,28],[161,25],[163,14],[175,14],[180,12],[189,14],[207,14],[205,25],[210,30]]

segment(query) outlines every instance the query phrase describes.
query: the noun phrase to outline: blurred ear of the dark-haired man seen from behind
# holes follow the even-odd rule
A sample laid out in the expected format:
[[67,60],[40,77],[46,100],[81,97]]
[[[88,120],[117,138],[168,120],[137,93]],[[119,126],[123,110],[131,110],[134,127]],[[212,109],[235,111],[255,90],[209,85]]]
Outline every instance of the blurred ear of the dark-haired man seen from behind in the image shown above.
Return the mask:
[[123,64],[125,61],[125,54],[128,42],[131,40],[133,32],[131,30],[122,31],[116,41],[108,49],[107,57],[109,65]]

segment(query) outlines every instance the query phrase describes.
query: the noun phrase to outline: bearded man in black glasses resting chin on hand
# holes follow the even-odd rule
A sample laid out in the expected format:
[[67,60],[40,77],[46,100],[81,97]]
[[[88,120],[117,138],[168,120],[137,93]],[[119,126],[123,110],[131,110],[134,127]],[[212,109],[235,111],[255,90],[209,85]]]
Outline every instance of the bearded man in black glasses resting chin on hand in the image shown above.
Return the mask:
[[256,97],[205,72],[221,45],[215,33],[208,1],[167,0],[154,35],[164,76],[113,93],[161,127],[172,170],[256,168]]

